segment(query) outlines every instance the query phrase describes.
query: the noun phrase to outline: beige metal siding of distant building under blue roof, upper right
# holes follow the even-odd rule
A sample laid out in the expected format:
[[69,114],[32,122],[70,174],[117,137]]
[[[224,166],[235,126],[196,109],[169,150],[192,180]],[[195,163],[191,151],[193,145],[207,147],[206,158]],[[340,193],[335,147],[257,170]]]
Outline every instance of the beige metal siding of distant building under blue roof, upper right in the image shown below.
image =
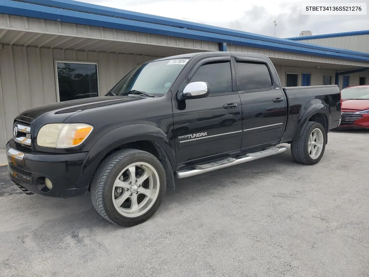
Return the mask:
[[314,40],[300,40],[327,47],[341,48],[369,53],[369,35],[350,35],[347,37],[317,38]]

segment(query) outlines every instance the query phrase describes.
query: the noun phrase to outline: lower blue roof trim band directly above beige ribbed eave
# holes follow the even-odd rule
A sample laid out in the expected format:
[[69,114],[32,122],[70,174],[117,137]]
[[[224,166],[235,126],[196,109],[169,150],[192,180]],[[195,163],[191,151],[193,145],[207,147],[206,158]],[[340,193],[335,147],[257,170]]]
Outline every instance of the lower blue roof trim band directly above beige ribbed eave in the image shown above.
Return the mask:
[[306,54],[321,57],[369,62],[369,57],[363,57],[359,55],[349,55],[330,51],[321,51],[310,48],[251,40],[228,35],[211,34],[203,31],[188,30],[183,28],[176,28],[171,26],[158,25],[140,21],[100,16],[96,14],[81,13],[77,11],[64,10],[61,8],[39,6],[35,4],[15,2],[9,0],[2,0],[0,2],[0,11],[1,13],[11,14],[15,16],[33,17],[44,20],[62,21],[66,23],[91,25],[96,27],[113,28],[118,30],[128,30],[164,36],[182,37],[202,41],[227,42],[228,44],[244,45],[248,47],[270,49],[275,51],[293,52],[297,54]]

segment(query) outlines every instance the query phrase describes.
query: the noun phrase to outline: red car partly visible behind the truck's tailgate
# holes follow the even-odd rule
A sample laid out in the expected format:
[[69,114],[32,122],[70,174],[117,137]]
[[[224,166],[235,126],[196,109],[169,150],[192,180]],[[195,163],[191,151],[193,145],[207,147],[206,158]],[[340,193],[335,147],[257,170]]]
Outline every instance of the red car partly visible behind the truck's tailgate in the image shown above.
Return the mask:
[[369,128],[369,85],[341,90],[341,124],[337,129]]

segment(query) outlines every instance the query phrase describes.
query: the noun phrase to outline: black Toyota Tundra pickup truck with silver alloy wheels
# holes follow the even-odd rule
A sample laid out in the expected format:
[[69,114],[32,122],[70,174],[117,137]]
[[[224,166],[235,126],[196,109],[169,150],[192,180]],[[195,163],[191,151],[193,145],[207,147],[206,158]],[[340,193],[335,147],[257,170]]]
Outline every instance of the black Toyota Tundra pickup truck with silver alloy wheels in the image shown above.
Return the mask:
[[[132,226],[175,179],[287,150],[316,164],[339,125],[336,85],[282,88],[264,55],[205,52],[146,62],[105,96],[27,110],[7,145],[25,194],[91,193],[97,212]],[[288,170],[286,168],[286,170]]]

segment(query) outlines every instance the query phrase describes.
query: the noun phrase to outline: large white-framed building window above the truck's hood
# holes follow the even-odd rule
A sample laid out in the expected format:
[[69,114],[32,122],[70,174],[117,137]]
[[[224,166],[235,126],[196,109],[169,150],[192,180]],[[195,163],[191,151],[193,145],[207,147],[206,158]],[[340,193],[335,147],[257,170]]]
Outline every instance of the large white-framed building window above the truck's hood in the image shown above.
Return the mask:
[[59,101],[99,96],[97,64],[56,62],[56,70]]

